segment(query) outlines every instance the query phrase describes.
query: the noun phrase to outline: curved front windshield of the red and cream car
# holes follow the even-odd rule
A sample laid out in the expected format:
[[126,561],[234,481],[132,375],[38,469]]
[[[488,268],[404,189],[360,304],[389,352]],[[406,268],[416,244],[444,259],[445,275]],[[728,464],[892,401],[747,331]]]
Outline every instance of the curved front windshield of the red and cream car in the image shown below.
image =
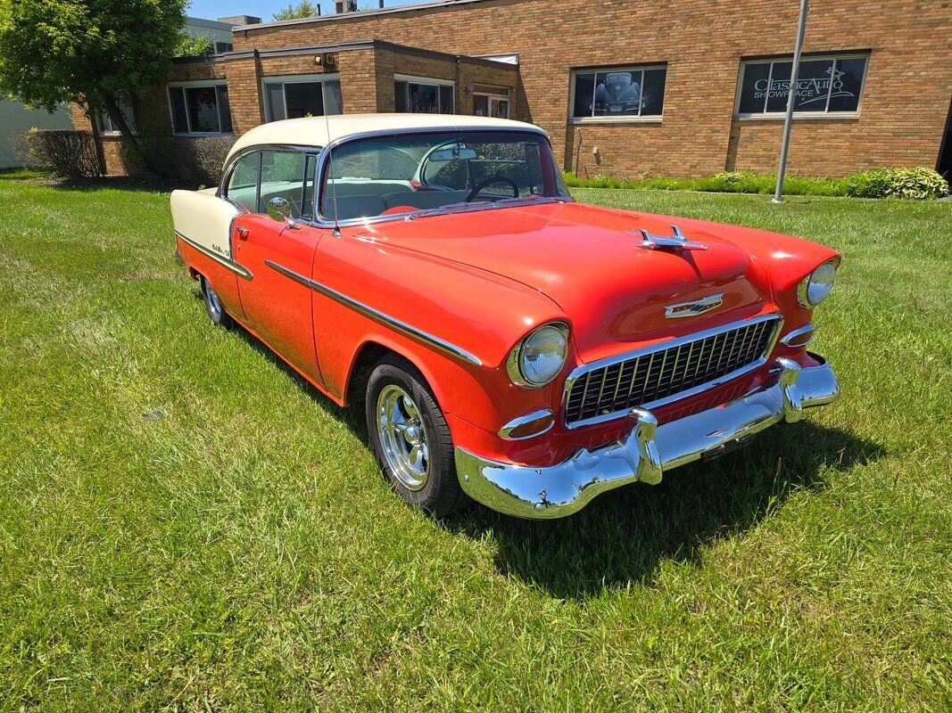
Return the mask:
[[[327,172],[326,172],[327,173]],[[518,131],[362,139],[333,150],[323,185],[327,220],[399,216],[462,204],[569,199],[545,137]]]

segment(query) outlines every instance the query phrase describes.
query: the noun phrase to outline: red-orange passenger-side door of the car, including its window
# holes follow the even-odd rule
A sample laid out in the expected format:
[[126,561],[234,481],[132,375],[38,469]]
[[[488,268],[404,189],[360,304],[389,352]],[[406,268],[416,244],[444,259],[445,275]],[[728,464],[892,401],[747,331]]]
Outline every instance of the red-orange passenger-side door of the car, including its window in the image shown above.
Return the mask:
[[[251,273],[238,286],[242,307],[248,327],[268,346],[323,383],[307,286],[322,229],[303,222],[312,211],[315,156],[264,148],[258,161],[253,210],[235,220],[236,260]],[[296,227],[268,217],[268,201],[274,198],[288,201]]]

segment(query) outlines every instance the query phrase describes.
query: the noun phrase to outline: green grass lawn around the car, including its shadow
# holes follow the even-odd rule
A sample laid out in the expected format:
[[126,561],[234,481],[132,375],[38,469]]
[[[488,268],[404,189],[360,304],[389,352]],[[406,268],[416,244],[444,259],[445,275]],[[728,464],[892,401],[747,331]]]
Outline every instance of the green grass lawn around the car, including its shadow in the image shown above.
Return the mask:
[[843,252],[843,398],[525,522],[387,490],[360,417],[172,260],[169,197],[0,177],[5,710],[952,706],[952,204],[579,190]]

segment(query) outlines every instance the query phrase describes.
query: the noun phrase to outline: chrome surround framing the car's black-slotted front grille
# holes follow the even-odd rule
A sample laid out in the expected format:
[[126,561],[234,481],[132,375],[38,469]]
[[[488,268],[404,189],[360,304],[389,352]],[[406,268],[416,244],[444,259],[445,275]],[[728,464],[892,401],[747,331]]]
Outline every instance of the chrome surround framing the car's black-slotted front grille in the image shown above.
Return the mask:
[[638,408],[650,410],[653,408],[658,408],[659,406],[664,406],[669,403],[674,403],[675,401],[680,401],[683,398],[689,398],[690,396],[703,394],[705,391],[721,386],[724,383],[737,378],[738,376],[744,376],[744,374],[747,374],[748,372],[752,372],[755,369],[758,369],[764,366],[764,364],[767,361],[767,357],[770,356],[770,353],[773,351],[774,346],[776,346],[777,338],[780,336],[781,330],[783,329],[783,316],[779,312],[770,312],[768,314],[761,315],[760,317],[755,317],[750,319],[739,319],[737,321],[723,324],[720,327],[713,327],[711,329],[705,329],[701,332],[694,332],[690,335],[685,335],[684,337],[668,339],[667,341],[659,342],[657,344],[652,344],[651,346],[648,346],[648,347],[635,349],[630,352],[625,352],[624,354],[615,355],[614,357],[605,357],[602,359],[597,359],[596,361],[592,361],[587,364],[582,364],[580,366],[577,366],[565,378],[565,387],[562,390],[561,409],[562,409],[563,423],[565,424],[565,428],[569,430],[574,430],[574,429],[582,428],[583,426],[592,426],[597,423],[605,423],[605,421],[611,421],[616,418],[621,418],[622,416],[625,416],[631,411],[630,408],[625,408],[620,411],[612,412],[611,414],[601,414],[597,416],[591,416],[590,418],[585,418],[579,421],[573,421],[572,423],[568,423],[567,421],[565,421],[565,407],[568,403],[568,393],[571,390],[572,385],[579,379],[580,376],[583,376],[585,373],[594,371],[596,369],[602,369],[606,366],[611,366],[613,364],[617,364],[623,361],[627,361],[628,359],[643,357],[645,355],[652,354],[654,352],[662,352],[666,349],[679,347],[688,342],[698,341],[700,339],[706,339],[707,337],[716,337],[717,335],[723,334],[724,332],[730,332],[731,330],[739,329],[741,327],[746,327],[751,324],[758,324],[760,322],[768,321],[771,319],[776,319],[777,324],[774,326],[773,333],[771,334],[770,339],[767,341],[767,346],[766,346],[766,349],[764,349],[764,354],[759,359],[756,359],[755,361],[741,367],[740,369],[735,369],[730,374],[725,374],[724,376],[716,378],[713,381],[708,381],[704,384],[695,386],[692,389],[679,392],[678,394],[664,396],[664,398],[659,398],[645,404],[638,404]]

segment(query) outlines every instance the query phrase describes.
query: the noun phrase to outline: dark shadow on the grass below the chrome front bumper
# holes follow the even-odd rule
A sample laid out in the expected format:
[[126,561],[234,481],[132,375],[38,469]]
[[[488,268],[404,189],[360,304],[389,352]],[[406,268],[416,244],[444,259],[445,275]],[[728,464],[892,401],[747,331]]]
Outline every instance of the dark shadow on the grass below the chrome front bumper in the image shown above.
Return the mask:
[[665,563],[697,564],[705,548],[756,527],[797,491],[819,493],[831,471],[876,460],[872,441],[809,421],[770,429],[724,457],[606,492],[560,520],[527,521],[476,506],[450,530],[499,548],[496,566],[562,599],[650,587]]

